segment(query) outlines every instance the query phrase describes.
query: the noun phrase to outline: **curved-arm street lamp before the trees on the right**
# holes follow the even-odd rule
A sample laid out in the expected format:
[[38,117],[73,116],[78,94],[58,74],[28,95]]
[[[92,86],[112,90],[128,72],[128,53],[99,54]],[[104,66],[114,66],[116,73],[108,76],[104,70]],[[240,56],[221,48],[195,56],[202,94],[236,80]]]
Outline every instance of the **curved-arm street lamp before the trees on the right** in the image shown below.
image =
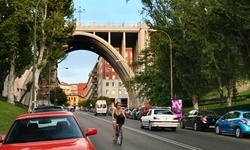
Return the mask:
[[174,88],[173,88],[173,50],[172,50],[172,39],[169,36],[169,34],[163,30],[155,30],[155,29],[148,29],[149,32],[161,32],[164,33],[165,35],[167,35],[168,39],[169,39],[169,50],[170,50],[170,86],[171,86],[171,99],[173,99],[173,95],[174,95]]

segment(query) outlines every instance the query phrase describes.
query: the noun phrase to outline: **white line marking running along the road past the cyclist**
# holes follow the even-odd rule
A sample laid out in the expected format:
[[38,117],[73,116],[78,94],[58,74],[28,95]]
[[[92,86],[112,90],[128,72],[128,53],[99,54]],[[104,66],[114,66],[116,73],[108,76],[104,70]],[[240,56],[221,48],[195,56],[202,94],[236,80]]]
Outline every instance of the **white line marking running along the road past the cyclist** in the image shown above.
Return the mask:
[[[89,115],[89,114],[87,114],[87,113],[84,113],[84,114],[85,114],[85,115],[88,115],[88,116],[90,116],[90,117],[93,117],[93,118],[96,118],[96,119],[99,119],[99,120],[108,122],[108,123],[112,123],[112,121],[108,121],[108,120],[105,120],[105,119],[103,119],[103,118],[99,118],[99,117],[96,117],[96,116],[93,116],[93,115]],[[137,132],[137,133],[141,133],[141,134],[147,135],[147,136],[149,136],[149,137],[152,137],[152,138],[155,138],[155,139],[164,141],[164,142],[168,142],[168,143],[171,143],[171,144],[180,146],[180,147],[184,147],[184,148],[186,148],[186,149],[190,149],[190,150],[202,150],[201,148],[198,148],[198,147],[194,147],[194,146],[191,146],[191,145],[188,145],[188,144],[185,144],[185,143],[181,143],[181,142],[178,142],[178,141],[174,141],[174,140],[171,140],[171,139],[168,139],[168,138],[164,138],[164,137],[161,137],[161,136],[158,136],[158,135],[154,135],[154,134],[151,134],[151,133],[143,132],[143,131],[140,131],[140,130],[138,130],[138,129],[134,129],[134,128],[128,127],[128,126],[126,126],[126,125],[123,125],[122,127],[123,127],[123,128],[126,128],[126,129],[129,129],[129,130],[132,130],[132,131],[135,131],[135,132]]]

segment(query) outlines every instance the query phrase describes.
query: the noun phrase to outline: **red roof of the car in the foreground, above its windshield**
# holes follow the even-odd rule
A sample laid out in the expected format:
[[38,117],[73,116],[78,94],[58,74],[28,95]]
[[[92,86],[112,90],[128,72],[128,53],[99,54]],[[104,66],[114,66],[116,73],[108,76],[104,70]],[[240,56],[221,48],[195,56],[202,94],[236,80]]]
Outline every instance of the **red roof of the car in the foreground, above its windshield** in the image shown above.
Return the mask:
[[28,118],[40,118],[40,117],[55,117],[55,116],[74,116],[72,112],[67,111],[54,111],[54,112],[41,112],[23,114],[16,118],[16,120],[28,119]]

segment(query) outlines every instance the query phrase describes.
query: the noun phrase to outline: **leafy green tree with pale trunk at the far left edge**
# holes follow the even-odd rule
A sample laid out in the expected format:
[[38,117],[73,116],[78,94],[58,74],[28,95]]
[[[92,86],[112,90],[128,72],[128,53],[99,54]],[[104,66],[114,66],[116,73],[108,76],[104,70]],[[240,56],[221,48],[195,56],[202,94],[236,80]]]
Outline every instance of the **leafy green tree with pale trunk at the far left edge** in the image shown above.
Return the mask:
[[[20,76],[30,64],[31,49],[29,45],[29,36],[26,33],[29,31],[31,20],[29,19],[30,12],[24,8],[27,1],[2,1],[0,3],[1,21],[0,21],[0,44],[1,54],[5,56],[5,62],[9,63],[8,67],[8,101],[14,103],[14,81],[17,76]],[[30,5],[27,4],[26,7]]]

